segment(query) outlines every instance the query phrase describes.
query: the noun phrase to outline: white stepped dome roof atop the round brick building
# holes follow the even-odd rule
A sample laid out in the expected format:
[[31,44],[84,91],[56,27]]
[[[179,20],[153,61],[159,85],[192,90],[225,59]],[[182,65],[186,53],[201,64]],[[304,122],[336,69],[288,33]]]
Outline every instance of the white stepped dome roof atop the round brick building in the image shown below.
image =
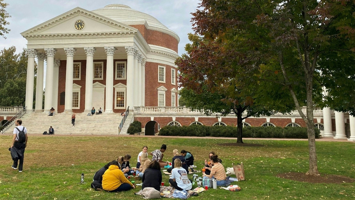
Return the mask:
[[110,4],[103,8],[93,10],[92,12],[124,23],[125,25],[142,25],[147,22],[149,29],[167,33],[180,41],[179,36],[174,31],[171,31],[151,15],[131,9],[126,5]]

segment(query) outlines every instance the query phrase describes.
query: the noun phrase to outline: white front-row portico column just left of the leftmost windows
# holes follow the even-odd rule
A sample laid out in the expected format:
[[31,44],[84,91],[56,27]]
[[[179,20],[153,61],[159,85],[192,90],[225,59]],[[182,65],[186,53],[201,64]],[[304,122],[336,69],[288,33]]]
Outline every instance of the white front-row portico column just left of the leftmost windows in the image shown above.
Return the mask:
[[64,48],[67,54],[67,62],[65,69],[65,102],[64,102],[64,112],[72,112],[73,106],[73,60],[76,49],[73,47]]

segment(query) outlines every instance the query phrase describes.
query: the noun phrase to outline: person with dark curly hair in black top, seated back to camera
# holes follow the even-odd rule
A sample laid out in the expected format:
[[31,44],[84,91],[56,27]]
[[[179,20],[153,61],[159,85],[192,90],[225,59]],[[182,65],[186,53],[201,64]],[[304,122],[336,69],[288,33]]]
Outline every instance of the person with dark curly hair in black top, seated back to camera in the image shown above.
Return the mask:
[[160,185],[162,184],[162,172],[160,171],[160,165],[158,160],[153,160],[148,168],[144,171],[142,177],[142,190],[144,188],[154,188],[160,191]]

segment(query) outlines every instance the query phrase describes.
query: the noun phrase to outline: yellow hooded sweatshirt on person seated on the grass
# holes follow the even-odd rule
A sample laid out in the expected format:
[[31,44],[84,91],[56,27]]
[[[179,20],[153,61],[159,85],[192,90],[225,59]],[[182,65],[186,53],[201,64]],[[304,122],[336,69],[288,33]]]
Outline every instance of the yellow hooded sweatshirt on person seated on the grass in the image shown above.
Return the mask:
[[110,165],[104,175],[102,175],[102,188],[111,191],[117,189],[122,183],[128,183],[133,187],[133,184],[125,177],[117,165]]

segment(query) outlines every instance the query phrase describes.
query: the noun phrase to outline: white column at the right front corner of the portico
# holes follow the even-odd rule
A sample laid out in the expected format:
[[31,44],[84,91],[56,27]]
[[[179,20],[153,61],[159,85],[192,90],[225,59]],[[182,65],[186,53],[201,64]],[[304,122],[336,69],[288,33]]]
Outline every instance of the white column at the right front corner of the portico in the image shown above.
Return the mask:
[[126,98],[126,107],[130,107],[130,110],[133,110],[133,101],[134,101],[134,53],[137,51],[137,48],[134,46],[125,47],[127,53],[127,98]]

